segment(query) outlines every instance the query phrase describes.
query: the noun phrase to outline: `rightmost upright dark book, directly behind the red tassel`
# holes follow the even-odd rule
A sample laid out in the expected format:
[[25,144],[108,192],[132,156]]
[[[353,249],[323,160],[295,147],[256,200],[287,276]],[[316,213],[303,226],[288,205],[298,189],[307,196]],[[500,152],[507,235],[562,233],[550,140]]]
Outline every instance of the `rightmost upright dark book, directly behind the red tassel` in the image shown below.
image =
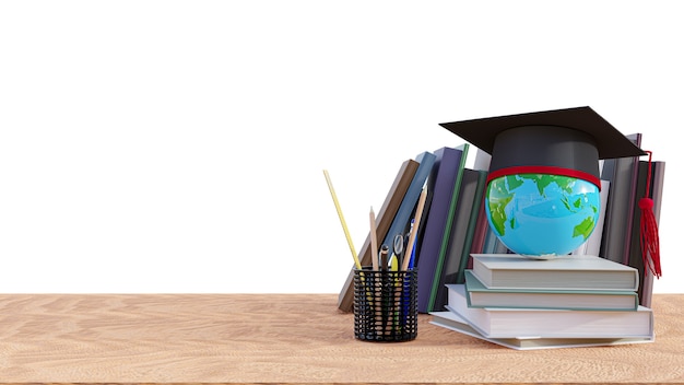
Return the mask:
[[653,200],[653,217],[656,223],[660,221],[660,203],[662,199],[662,183],[664,180],[664,163],[651,162],[651,170],[649,171],[648,161],[639,161],[639,172],[637,180],[637,197],[634,202],[634,219],[632,224],[632,245],[629,248],[629,261],[628,265],[639,270],[639,279],[641,284],[639,285],[638,294],[639,302],[644,306],[650,306],[653,277],[649,268],[644,264],[644,253],[641,248],[641,209],[639,208],[640,198],[650,198]]

